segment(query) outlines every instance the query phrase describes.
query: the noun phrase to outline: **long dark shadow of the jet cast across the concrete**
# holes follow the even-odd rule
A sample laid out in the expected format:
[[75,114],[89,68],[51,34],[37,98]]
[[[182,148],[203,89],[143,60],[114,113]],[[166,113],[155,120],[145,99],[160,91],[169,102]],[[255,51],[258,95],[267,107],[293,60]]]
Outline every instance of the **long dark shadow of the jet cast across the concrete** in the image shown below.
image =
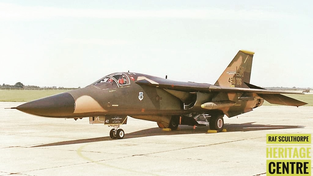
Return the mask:
[[[225,124],[224,128],[227,132],[247,132],[247,131],[259,131],[259,130],[276,130],[276,129],[292,129],[292,128],[304,128],[304,126],[288,126],[288,125],[259,125],[253,124],[255,122],[242,123],[242,124]],[[124,139],[136,138],[136,137],[147,137],[147,136],[160,136],[160,135],[179,135],[179,134],[200,134],[208,133],[209,127],[197,127],[193,129],[190,126],[180,126],[179,130],[175,131],[162,131],[160,128],[149,128],[140,130],[132,133],[125,134]],[[96,137],[89,139],[78,139],[72,141],[54,142],[42,145],[36,145],[32,147],[47,147],[57,145],[68,145],[68,144],[79,144],[88,142],[99,142],[99,141],[110,141],[115,140],[108,137]]]

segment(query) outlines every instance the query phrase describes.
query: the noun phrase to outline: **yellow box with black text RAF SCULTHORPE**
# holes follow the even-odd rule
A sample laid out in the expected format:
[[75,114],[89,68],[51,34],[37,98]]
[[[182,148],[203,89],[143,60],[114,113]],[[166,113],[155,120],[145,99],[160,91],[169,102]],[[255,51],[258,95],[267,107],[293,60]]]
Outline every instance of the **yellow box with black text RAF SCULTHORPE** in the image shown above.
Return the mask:
[[266,134],[267,144],[310,144],[311,134]]

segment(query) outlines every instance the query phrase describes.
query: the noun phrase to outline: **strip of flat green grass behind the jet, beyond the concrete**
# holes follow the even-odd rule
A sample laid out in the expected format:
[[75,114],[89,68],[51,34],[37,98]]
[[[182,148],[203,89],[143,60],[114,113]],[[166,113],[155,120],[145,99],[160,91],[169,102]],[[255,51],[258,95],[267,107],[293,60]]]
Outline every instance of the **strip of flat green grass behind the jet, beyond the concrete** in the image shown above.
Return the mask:
[[[1,90],[0,101],[27,102],[66,91],[67,90]],[[313,106],[313,94],[304,94],[304,95],[288,94],[286,96],[308,103],[305,106]],[[280,106],[270,104],[267,101],[264,101],[263,105]]]

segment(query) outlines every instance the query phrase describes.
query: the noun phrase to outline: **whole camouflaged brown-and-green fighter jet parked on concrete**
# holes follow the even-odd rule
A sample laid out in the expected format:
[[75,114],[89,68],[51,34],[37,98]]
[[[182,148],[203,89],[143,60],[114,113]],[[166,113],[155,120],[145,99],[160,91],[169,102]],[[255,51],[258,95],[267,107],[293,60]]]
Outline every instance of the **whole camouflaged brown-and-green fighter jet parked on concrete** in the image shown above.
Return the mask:
[[127,117],[156,122],[160,128],[209,126],[222,131],[223,116],[237,116],[269,103],[302,106],[307,103],[250,84],[254,52],[240,50],[214,85],[168,80],[133,72],[107,75],[85,88],[34,100],[12,109],[56,117],[89,117],[91,124],[114,127],[111,138],[122,139]]

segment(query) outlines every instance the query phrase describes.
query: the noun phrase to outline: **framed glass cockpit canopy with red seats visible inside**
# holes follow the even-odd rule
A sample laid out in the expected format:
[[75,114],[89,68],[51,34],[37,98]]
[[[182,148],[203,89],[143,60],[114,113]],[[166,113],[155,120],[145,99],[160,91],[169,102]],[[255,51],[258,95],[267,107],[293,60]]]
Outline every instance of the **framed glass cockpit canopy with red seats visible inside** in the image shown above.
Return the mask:
[[92,85],[99,87],[100,89],[118,88],[120,86],[129,85],[130,80],[125,73],[113,73],[107,75],[100,80],[96,81]]

